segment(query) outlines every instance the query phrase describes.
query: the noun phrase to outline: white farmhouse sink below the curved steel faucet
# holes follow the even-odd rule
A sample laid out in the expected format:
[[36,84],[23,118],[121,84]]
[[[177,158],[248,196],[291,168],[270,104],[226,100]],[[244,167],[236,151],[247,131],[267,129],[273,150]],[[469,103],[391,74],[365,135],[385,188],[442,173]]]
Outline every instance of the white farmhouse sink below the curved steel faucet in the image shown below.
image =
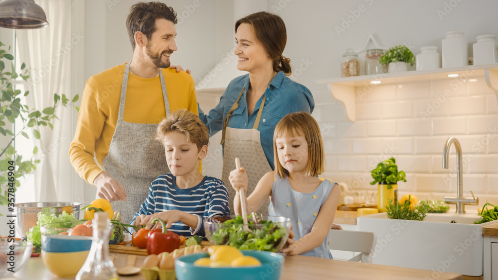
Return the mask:
[[466,276],[483,275],[483,226],[477,214],[427,214],[424,221],[388,219],[386,213],[358,217],[358,230],[377,234],[373,264]]

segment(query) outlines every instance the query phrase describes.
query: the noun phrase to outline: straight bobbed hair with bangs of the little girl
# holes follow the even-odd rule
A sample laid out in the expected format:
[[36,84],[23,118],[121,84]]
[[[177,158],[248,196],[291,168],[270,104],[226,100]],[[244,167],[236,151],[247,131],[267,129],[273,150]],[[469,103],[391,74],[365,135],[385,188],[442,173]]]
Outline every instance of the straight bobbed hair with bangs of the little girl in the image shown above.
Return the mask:
[[307,112],[290,113],[284,116],[275,126],[273,133],[273,155],[275,160],[275,173],[280,178],[289,176],[278,160],[276,139],[282,136],[304,136],[308,143],[308,164],[306,176],[317,176],[325,170],[325,154],[323,151],[322,134],[316,120]]

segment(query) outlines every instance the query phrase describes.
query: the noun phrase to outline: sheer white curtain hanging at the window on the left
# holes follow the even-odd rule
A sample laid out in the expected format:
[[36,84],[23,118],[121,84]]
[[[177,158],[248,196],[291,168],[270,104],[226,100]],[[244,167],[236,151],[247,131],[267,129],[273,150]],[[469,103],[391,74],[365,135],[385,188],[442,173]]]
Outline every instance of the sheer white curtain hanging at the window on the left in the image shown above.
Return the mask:
[[[72,99],[71,50],[81,42],[78,34],[71,32],[71,4],[68,0],[36,0],[46,13],[49,26],[33,30],[17,30],[19,59],[30,69],[27,83],[30,108],[42,110],[53,106],[54,93],[63,93]],[[68,149],[72,140],[70,111],[73,107],[56,109],[59,119],[53,120],[54,128],[38,127],[41,138],[34,139],[39,159],[34,176],[35,201],[77,201],[68,174],[72,172]],[[31,186],[21,186],[31,187]]]

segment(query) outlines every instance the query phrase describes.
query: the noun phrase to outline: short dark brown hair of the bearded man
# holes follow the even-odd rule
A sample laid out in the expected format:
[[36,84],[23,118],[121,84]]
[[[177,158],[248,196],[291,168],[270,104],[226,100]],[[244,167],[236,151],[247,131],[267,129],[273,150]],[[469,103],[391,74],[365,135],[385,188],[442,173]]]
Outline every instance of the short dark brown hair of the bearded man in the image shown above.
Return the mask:
[[155,21],[158,18],[167,19],[174,24],[178,21],[176,12],[165,3],[138,2],[131,6],[126,18],[126,29],[133,51],[135,50],[135,32],[142,32],[150,40],[152,33],[156,31]]

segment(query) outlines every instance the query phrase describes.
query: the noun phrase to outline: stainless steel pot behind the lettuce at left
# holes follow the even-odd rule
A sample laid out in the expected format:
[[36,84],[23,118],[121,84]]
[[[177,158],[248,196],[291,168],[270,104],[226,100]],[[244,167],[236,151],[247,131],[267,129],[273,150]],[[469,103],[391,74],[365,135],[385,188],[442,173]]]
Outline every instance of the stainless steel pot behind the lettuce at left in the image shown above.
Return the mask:
[[[27,231],[36,225],[37,215],[42,210],[59,215],[62,211],[76,213],[80,210],[81,203],[78,202],[27,202],[14,204],[16,218],[15,229],[21,237],[27,236]],[[80,213],[75,217],[79,219]]]

